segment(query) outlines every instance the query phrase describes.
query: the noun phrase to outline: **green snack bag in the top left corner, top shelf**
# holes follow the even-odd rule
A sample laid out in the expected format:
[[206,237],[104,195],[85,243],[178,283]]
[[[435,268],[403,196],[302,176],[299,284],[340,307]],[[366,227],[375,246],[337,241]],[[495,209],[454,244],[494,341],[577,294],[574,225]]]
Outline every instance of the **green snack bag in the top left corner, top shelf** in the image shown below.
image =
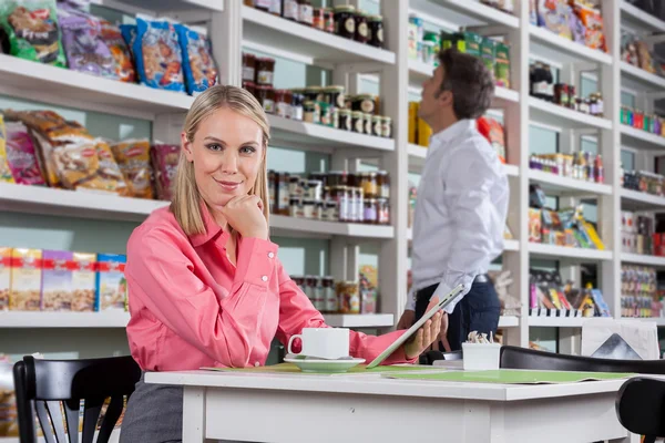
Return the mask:
[[12,55],[54,66],[65,65],[55,0],[3,0],[0,24]]

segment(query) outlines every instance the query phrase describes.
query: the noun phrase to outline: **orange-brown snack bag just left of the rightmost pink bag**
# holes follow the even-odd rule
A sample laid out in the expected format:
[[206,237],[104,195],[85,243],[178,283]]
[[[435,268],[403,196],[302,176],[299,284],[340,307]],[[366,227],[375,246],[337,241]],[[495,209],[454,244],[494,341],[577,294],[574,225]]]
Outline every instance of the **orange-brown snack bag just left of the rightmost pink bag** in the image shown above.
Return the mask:
[[111,145],[120,171],[131,187],[134,197],[154,198],[152,168],[150,166],[150,142],[127,140]]

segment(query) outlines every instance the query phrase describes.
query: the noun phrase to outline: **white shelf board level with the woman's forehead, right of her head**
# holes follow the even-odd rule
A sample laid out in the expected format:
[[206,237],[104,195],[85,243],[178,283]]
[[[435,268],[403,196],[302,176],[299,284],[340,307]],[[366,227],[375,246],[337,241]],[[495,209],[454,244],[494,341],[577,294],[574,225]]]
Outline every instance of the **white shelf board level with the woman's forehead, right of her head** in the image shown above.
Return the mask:
[[344,147],[395,151],[395,140],[392,138],[356,134],[277,115],[268,115],[268,122],[270,124],[270,145],[285,145],[324,152]]

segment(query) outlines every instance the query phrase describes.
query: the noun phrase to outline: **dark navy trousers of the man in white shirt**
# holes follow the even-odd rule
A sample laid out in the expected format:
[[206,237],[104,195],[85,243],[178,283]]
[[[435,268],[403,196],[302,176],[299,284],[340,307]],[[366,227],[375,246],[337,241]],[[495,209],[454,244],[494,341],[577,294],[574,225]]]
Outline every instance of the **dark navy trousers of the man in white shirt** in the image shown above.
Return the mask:
[[[481,280],[481,281],[479,281]],[[416,293],[416,321],[423,315],[429,300],[439,285],[432,285]],[[471,331],[497,333],[499,328],[499,316],[501,303],[494,290],[494,285],[489,278],[482,276],[471,285],[471,290],[454,307],[452,313],[448,315],[448,343],[452,351],[461,350],[462,342]],[[443,346],[439,343],[441,350]]]

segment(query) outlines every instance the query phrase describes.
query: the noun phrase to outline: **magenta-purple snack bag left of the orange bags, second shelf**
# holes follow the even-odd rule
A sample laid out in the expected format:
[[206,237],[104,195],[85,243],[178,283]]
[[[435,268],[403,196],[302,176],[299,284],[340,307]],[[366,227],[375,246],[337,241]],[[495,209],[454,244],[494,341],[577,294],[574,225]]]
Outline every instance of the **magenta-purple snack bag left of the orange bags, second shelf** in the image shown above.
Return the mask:
[[20,185],[45,185],[37,151],[25,125],[20,122],[6,122],[4,127],[7,162],[14,182]]

